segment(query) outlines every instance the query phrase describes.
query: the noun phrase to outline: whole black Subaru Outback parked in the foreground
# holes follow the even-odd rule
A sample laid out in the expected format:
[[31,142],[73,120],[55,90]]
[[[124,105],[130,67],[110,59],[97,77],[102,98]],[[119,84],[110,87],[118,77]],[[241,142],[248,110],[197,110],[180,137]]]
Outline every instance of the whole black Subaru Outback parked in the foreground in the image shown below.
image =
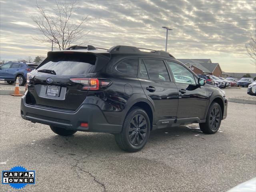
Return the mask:
[[199,123],[214,134],[227,115],[225,93],[164,51],[72,46],[48,52],[27,82],[22,118],[62,136],[112,133],[129,152],[158,128]]

